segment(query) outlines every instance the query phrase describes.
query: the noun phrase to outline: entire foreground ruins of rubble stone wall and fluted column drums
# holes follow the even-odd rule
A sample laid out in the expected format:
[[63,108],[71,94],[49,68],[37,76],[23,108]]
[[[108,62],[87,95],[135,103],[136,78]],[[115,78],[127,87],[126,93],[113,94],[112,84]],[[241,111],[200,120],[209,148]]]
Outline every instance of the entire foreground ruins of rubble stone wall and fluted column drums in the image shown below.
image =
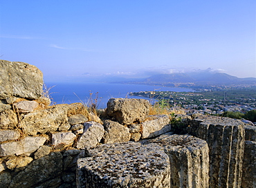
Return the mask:
[[254,126],[149,115],[147,100],[122,98],[100,119],[50,106],[35,66],[0,66],[0,187],[255,187]]

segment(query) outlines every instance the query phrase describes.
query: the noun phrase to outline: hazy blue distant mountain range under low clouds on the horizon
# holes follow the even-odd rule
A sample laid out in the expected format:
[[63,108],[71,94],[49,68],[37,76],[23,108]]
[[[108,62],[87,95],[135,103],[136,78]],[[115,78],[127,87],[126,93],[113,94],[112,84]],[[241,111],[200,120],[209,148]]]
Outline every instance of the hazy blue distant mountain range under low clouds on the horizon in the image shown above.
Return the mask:
[[145,79],[122,80],[122,83],[141,82],[140,84],[256,84],[255,77],[239,78],[226,73],[198,71],[190,73],[171,73],[152,75]]

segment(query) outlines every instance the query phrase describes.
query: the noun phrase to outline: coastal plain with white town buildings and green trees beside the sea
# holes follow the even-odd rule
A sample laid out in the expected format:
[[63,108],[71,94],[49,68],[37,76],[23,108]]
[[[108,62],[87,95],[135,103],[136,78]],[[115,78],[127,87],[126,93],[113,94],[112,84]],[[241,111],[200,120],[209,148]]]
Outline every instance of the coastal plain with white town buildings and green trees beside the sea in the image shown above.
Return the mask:
[[180,106],[187,113],[222,115],[226,111],[246,113],[256,109],[256,86],[215,86],[194,92],[140,91],[129,95]]

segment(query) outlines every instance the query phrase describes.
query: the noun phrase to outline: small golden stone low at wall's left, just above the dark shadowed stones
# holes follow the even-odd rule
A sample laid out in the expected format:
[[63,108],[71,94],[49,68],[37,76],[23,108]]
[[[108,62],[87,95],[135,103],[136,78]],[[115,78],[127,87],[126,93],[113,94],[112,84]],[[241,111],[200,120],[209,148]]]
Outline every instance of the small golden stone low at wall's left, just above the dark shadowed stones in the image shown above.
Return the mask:
[[10,170],[21,171],[32,161],[33,158],[30,157],[12,157],[6,161],[6,167]]

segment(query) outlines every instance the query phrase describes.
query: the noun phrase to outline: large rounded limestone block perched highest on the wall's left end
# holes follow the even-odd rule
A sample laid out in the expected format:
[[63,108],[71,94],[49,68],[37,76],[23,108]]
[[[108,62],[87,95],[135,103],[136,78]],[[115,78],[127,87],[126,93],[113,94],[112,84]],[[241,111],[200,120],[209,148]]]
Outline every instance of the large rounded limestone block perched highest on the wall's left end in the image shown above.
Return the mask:
[[43,91],[43,73],[23,62],[0,60],[0,98],[15,96],[37,99]]

